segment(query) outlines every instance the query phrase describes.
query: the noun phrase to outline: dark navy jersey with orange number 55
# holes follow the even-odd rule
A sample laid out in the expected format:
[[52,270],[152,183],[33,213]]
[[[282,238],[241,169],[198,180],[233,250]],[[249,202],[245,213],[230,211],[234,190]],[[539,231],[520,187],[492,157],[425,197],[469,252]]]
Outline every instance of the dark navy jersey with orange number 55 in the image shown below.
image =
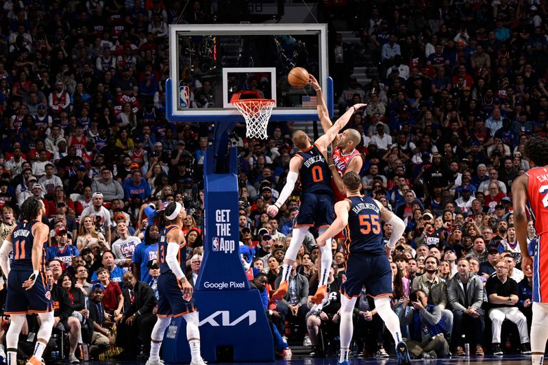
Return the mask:
[[350,202],[348,225],[345,228],[347,253],[384,255],[381,210],[370,197],[347,197]]

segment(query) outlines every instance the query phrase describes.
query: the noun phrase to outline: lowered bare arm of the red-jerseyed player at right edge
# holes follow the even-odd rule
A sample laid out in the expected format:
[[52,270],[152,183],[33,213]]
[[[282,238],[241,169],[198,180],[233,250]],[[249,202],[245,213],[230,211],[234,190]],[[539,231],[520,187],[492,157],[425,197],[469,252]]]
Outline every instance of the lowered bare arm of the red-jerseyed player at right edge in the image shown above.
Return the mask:
[[512,205],[514,208],[514,227],[521,251],[521,270],[531,274],[533,259],[527,248],[527,175],[517,177],[512,183]]

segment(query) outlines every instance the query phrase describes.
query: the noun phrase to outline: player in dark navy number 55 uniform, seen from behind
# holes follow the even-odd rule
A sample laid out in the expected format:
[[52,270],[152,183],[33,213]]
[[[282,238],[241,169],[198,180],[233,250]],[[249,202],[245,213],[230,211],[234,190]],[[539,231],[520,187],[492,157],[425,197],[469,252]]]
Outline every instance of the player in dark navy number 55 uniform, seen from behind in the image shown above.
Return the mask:
[[[336,220],[318,237],[319,247],[327,246],[329,237],[345,229],[347,264],[340,285],[340,357],[338,364],[349,365],[348,353],[352,340],[352,311],[365,286],[373,297],[377,313],[384,320],[396,343],[398,364],[410,364],[406,343],[403,342],[399,318],[390,307],[392,270],[388,257],[406,226],[400,218],[386,210],[378,201],[360,194],[360,175],[349,172],[343,176],[347,199],[335,204]],[[390,223],[392,235],[385,249],[382,243],[381,221]]]

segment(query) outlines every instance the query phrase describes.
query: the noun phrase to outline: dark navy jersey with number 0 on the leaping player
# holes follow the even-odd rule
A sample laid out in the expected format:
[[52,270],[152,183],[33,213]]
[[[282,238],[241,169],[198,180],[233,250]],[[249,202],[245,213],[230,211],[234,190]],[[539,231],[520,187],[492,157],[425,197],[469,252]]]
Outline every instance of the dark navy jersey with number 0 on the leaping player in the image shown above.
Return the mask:
[[302,192],[333,194],[331,171],[329,171],[327,161],[316,144],[312,144],[308,149],[298,151],[295,155],[303,159],[303,166],[299,171]]

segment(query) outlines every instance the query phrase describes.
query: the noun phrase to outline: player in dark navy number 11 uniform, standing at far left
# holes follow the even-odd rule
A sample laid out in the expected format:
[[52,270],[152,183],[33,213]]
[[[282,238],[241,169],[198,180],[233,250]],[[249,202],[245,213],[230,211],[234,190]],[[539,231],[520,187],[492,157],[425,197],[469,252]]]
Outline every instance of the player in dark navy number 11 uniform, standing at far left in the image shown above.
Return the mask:
[[[27,313],[37,313],[41,322],[34,353],[27,365],[42,364],[42,353],[53,329],[53,305],[44,275],[44,247],[49,234],[49,228],[42,223],[45,212],[46,207],[40,199],[30,197],[25,200],[21,205],[20,223],[10,231],[0,249],[0,266],[8,277],[4,314],[11,317],[5,336],[7,365],[17,364],[17,343]],[[11,268],[10,252],[13,252]]]

